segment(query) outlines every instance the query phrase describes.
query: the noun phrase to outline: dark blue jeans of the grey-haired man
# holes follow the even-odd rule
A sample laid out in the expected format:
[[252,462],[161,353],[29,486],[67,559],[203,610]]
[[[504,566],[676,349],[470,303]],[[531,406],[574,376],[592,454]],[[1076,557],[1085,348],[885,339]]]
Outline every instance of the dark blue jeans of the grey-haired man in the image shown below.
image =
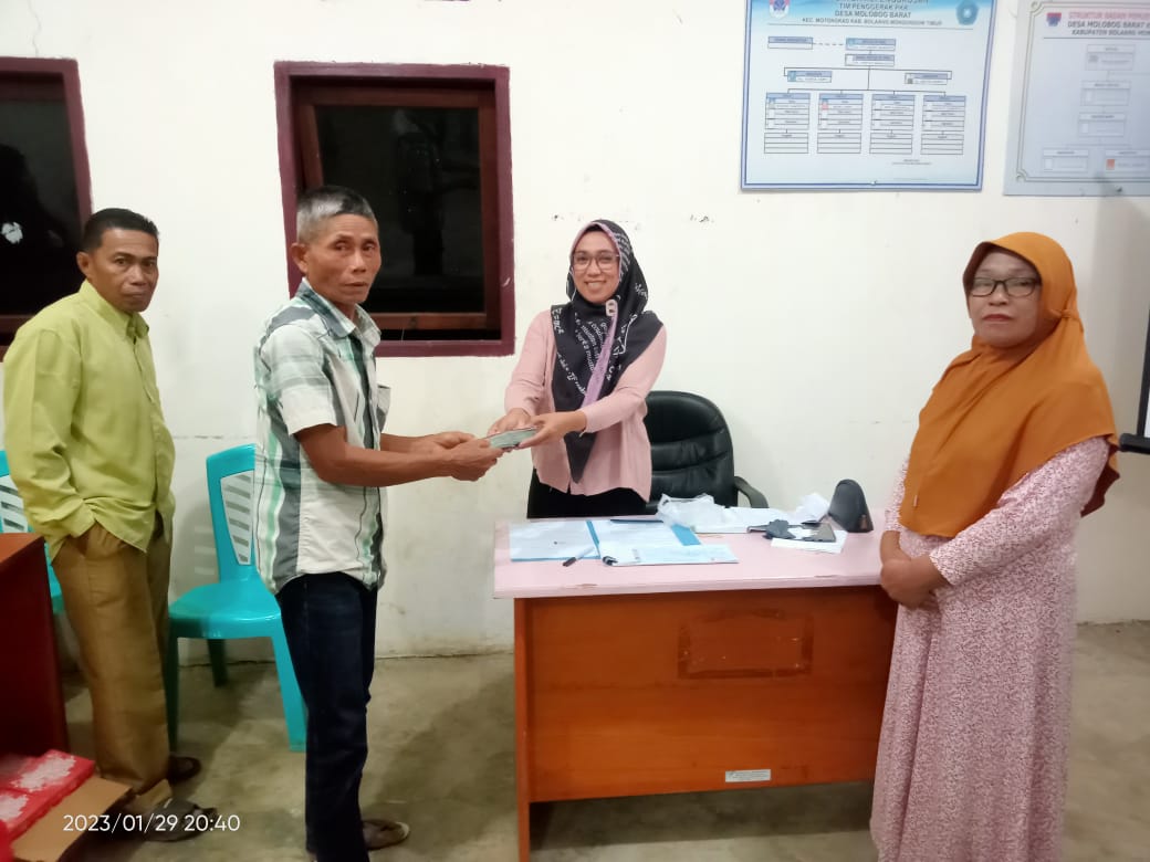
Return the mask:
[[305,824],[317,862],[367,862],[359,807],[377,594],[343,572],[302,575],[279,613],[307,705]]

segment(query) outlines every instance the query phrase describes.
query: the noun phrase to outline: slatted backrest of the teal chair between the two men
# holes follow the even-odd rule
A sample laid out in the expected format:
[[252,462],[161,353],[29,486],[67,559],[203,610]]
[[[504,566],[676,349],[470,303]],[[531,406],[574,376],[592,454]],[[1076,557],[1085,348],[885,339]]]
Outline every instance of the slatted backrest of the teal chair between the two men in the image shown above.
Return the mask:
[[208,506],[220,580],[259,579],[252,560],[252,483],[255,446],[208,455]]

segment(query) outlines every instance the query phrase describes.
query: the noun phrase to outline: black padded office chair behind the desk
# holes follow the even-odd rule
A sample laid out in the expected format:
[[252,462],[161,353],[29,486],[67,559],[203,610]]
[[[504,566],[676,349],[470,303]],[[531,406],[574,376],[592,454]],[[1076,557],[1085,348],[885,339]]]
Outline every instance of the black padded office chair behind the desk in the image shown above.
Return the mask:
[[738,495],[754,508],[767,498],[735,475],[735,452],[727,421],[715,405],[690,392],[651,392],[644,418],[651,438],[651,500],[711,494],[720,506],[737,506]]

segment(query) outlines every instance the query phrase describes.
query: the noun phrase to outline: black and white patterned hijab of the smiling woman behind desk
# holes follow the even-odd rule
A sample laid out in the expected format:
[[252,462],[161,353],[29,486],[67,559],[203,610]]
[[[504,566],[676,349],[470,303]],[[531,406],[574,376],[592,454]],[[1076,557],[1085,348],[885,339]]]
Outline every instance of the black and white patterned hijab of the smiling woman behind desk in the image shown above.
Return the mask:
[[[662,328],[654,311],[645,311],[646,279],[639,269],[631,240],[614,222],[597,218],[585,225],[572,243],[572,254],[583,236],[598,229],[615,246],[619,255],[619,285],[615,295],[604,305],[583,299],[575,288],[575,278],[567,270],[567,298],[562,306],[551,307],[551,325],[555,332],[555,369],[551,394],[555,410],[578,410],[606,398],[620,376],[645,351]],[[605,347],[610,343],[610,348]],[[593,433],[569,433],[564,438],[572,479],[583,477],[583,468],[595,446]]]

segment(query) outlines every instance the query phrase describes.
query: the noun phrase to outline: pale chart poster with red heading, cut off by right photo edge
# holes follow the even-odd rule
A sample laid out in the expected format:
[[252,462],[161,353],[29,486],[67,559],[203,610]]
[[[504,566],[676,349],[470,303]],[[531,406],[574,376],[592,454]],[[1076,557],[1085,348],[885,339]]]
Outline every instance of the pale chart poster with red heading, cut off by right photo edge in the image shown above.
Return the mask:
[[1150,2],[1022,0],[1006,194],[1150,194]]

